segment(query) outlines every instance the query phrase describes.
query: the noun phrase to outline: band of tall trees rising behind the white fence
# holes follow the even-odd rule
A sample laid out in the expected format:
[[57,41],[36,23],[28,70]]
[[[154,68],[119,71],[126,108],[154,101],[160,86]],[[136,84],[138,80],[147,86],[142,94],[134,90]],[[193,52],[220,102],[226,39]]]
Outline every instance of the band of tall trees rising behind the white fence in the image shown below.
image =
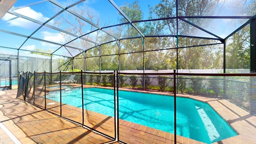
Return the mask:
[[[221,0],[179,1],[179,3],[178,15],[180,16],[210,16],[224,5]],[[132,21],[138,21],[144,17],[138,0],[130,4],[124,3],[120,9]],[[156,20],[134,24],[143,34],[151,35],[150,37],[143,38],[131,24],[122,24],[127,23],[127,20],[119,13],[118,21],[122,25],[116,28],[115,32],[122,35],[124,39],[113,40],[87,50],[86,68],[79,65],[79,63],[84,65],[83,59],[81,62],[76,62],[75,68],[118,70],[120,66],[120,70],[221,69],[224,53],[226,54],[226,68],[249,68],[250,26],[244,27],[228,38],[224,52],[224,44],[219,40],[191,37],[203,32],[193,24],[207,29],[207,23],[211,22],[210,19],[189,19],[191,24],[184,24],[187,19],[182,18],[158,20],[176,16],[175,0],[161,0],[155,6],[148,6],[148,9],[148,19]],[[96,24],[100,23],[99,16],[89,11],[88,7],[74,9],[74,11],[82,16],[86,15],[85,17]],[[60,22],[56,24],[69,22],[65,17],[59,17],[59,19]],[[82,27],[86,24],[80,21],[77,24],[74,28],[68,29],[84,34]],[[94,27],[91,26],[91,30],[93,29]],[[93,36],[88,34],[85,38],[98,41],[109,40],[108,34],[100,35],[97,32]],[[88,43],[81,42],[81,45],[86,47]]]

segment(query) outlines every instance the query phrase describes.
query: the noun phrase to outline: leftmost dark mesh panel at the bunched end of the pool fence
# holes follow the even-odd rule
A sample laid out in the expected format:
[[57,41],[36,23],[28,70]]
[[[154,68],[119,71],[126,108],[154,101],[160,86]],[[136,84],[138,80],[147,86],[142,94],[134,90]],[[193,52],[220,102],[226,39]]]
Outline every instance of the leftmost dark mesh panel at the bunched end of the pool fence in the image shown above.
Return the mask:
[[26,92],[26,82],[27,82],[27,74],[28,72],[20,75],[20,81],[18,85],[17,97],[20,100],[25,100],[25,92]]

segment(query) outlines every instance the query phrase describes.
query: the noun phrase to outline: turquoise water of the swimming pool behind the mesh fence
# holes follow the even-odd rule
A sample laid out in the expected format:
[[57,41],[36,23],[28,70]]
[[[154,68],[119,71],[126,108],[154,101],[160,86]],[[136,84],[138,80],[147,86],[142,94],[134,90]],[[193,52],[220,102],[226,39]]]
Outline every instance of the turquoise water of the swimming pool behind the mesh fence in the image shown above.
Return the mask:
[[[84,88],[84,108],[114,116],[113,90]],[[174,97],[138,92],[119,92],[119,118],[174,133]],[[62,92],[62,103],[82,108],[82,92]],[[59,92],[46,98],[60,102]],[[208,104],[177,97],[177,134],[205,143],[217,142],[236,132]]]

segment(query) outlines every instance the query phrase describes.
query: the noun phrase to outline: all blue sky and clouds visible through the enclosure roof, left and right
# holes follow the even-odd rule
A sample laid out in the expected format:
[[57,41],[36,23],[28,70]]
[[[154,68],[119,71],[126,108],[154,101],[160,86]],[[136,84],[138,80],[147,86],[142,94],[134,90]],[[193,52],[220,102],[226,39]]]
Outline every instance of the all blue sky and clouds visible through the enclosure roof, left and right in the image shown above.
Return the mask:
[[[56,1],[62,4],[64,7],[69,6],[71,4],[71,3],[66,3],[66,0],[56,0]],[[78,2],[78,1],[79,0],[72,0],[72,2]],[[49,18],[54,16],[57,12],[62,10],[61,8],[52,4],[51,2],[43,2],[40,4],[28,6],[28,4],[37,3],[37,2],[42,2],[42,0],[18,0],[14,4],[14,12],[33,18],[35,20],[38,20],[41,23],[44,23]],[[123,6],[124,3],[131,4],[132,2],[134,2],[134,0],[114,0],[114,2],[116,2],[118,6]],[[148,5],[150,4],[150,6],[155,6],[159,2],[160,0],[139,0],[140,8],[142,9],[144,14],[143,20],[146,20],[148,18],[148,13],[149,13]],[[226,0],[225,2],[227,4],[230,4],[233,1]],[[27,6],[27,7],[22,8],[22,6]],[[227,6],[227,5],[224,4],[223,6]],[[19,9],[16,9],[17,7]],[[100,27],[118,24],[118,18],[120,17],[120,15],[118,15],[118,11],[110,4],[110,2],[108,2],[108,0],[86,0],[85,2],[78,4],[76,8],[77,10],[81,8],[86,8],[86,10],[88,10],[90,14],[95,15],[96,18],[99,17]],[[239,8],[239,3],[237,5],[234,5],[233,7],[228,7],[228,6],[226,7],[226,10],[233,12],[232,9],[230,8],[236,8],[234,12],[238,11],[237,8]],[[61,15],[66,16],[65,14],[68,14],[68,12],[66,11],[62,12]],[[220,12],[218,12],[218,14],[220,14]],[[223,14],[225,13],[223,12]],[[84,17],[87,19],[90,19],[86,14],[84,15]],[[54,24],[54,22],[56,22],[57,20],[58,20],[57,18],[54,18],[47,24],[49,26],[58,26],[58,28],[60,28],[61,30],[66,30],[66,28],[68,28],[67,24],[63,24],[63,23],[61,25]],[[74,16],[69,16],[68,20],[70,20],[72,24],[76,23],[76,21],[74,20]],[[236,21],[235,19],[225,19],[225,20],[214,19],[211,21],[211,23],[209,23],[209,24],[212,24],[212,26],[208,26],[208,29],[206,30],[214,31],[219,29],[219,31],[216,32],[215,34],[219,36],[222,36],[222,34],[227,35],[229,34],[229,32],[232,32],[232,30],[235,30],[238,26],[240,26],[240,23],[243,23],[246,21],[247,19],[240,20],[240,21]],[[93,22],[96,24],[97,20],[93,19]],[[237,25],[234,26],[234,24],[236,23]],[[15,32],[15,33],[23,34],[25,36],[30,36],[30,34],[32,34],[32,32],[34,32],[39,26],[40,24],[37,24],[35,22],[30,22],[24,18],[16,18],[16,16],[12,14],[6,14],[0,20],[1,30]],[[87,26],[84,26],[84,28],[82,29],[83,34],[90,32],[90,28],[91,28],[90,24],[88,24]],[[206,33],[202,33],[202,34],[206,34]],[[2,39],[0,40],[1,46],[11,47],[11,48],[20,48],[22,43],[26,40],[26,38],[24,37],[19,37],[19,36],[7,34],[4,32],[0,32],[0,35],[2,37]],[[93,35],[94,34],[91,34],[92,40],[94,40]],[[39,38],[42,40],[56,42],[60,44],[65,44],[67,42],[64,36],[65,36],[64,33],[59,32],[58,30],[54,30],[52,28],[48,28],[46,26],[43,26],[40,30],[38,30],[35,34],[32,35],[32,37],[34,38]],[[74,39],[76,37],[69,36],[69,38]],[[73,42],[70,44],[70,46],[80,48],[79,46],[76,46],[74,44],[75,43]],[[26,41],[25,44],[23,44],[23,46],[20,49],[34,50],[35,48],[41,48],[41,49],[50,48],[52,51],[54,51],[59,47],[60,45],[29,39],[28,41]],[[57,52],[57,53],[62,54],[62,51],[60,50],[60,52]],[[68,53],[65,53],[65,54],[68,54]]]

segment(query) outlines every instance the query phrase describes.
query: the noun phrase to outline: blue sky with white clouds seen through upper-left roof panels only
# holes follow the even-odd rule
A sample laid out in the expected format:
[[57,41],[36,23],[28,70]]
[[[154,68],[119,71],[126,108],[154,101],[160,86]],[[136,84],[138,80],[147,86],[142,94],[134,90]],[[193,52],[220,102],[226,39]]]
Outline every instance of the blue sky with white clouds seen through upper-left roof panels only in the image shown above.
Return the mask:
[[[78,0],[75,0],[73,2],[76,2]],[[38,20],[40,22],[46,22],[49,18],[54,16],[57,12],[61,10],[61,8],[55,6],[51,2],[43,2],[40,4],[35,4],[32,6],[28,6],[29,4],[34,4],[37,2],[41,2],[41,0],[18,0],[14,4],[14,12],[18,14],[22,14],[24,16],[33,18],[35,20]],[[62,2],[61,0],[58,0],[64,7],[68,6],[69,3]],[[133,0],[127,0],[127,1],[116,1],[118,6],[122,6],[125,2],[132,3]],[[144,17],[147,17],[146,14],[148,13],[148,2],[146,0],[141,0],[141,8],[145,12]],[[156,2],[156,1],[152,1]],[[26,6],[26,7],[23,7]],[[108,2],[107,0],[87,0],[85,2],[82,2],[78,4],[77,8],[82,8],[84,6],[87,6],[88,10],[91,12],[91,14],[94,14],[96,17],[100,17],[100,24],[99,26],[109,26],[113,24],[118,24],[118,11]],[[19,9],[17,9],[19,8]],[[63,12],[62,16],[65,16],[65,13]],[[89,19],[84,15],[85,18]],[[14,18],[12,20],[12,18]],[[70,19],[73,17],[70,17]],[[56,26],[54,24],[54,21],[57,18],[54,18],[47,24],[50,26]],[[145,18],[146,19],[146,18]],[[96,23],[96,20],[94,20]],[[73,21],[74,22],[74,21]],[[35,22],[30,22],[29,20],[26,20],[24,18],[16,18],[16,16],[12,14],[6,14],[1,20],[0,20],[0,27],[2,30],[7,30],[10,32],[15,32],[19,34],[23,34],[25,36],[30,36],[32,32],[34,32],[40,24],[37,24]],[[68,25],[62,24],[58,28],[65,30]],[[87,33],[90,31],[91,25],[88,24],[87,26],[84,26],[84,33]],[[11,48],[20,48],[21,44],[26,40],[24,37],[18,37],[14,36],[12,34],[6,34],[2,33],[1,35],[5,37],[5,40],[1,40],[1,46],[11,47]],[[38,30],[35,34],[32,35],[32,37],[40,38],[42,40],[48,40],[52,42],[57,42],[60,44],[65,44],[67,41],[63,38],[64,33],[59,32],[57,30],[54,30],[52,28],[48,28],[46,26],[43,26],[40,30]],[[75,38],[71,36],[71,38]],[[15,39],[15,41],[14,41]],[[52,48],[52,51],[59,48],[59,45],[55,44],[49,44],[46,42],[40,42],[37,40],[29,39],[26,41],[26,43],[20,48],[22,50],[34,50],[35,48],[41,48],[41,49],[47,49]]]

